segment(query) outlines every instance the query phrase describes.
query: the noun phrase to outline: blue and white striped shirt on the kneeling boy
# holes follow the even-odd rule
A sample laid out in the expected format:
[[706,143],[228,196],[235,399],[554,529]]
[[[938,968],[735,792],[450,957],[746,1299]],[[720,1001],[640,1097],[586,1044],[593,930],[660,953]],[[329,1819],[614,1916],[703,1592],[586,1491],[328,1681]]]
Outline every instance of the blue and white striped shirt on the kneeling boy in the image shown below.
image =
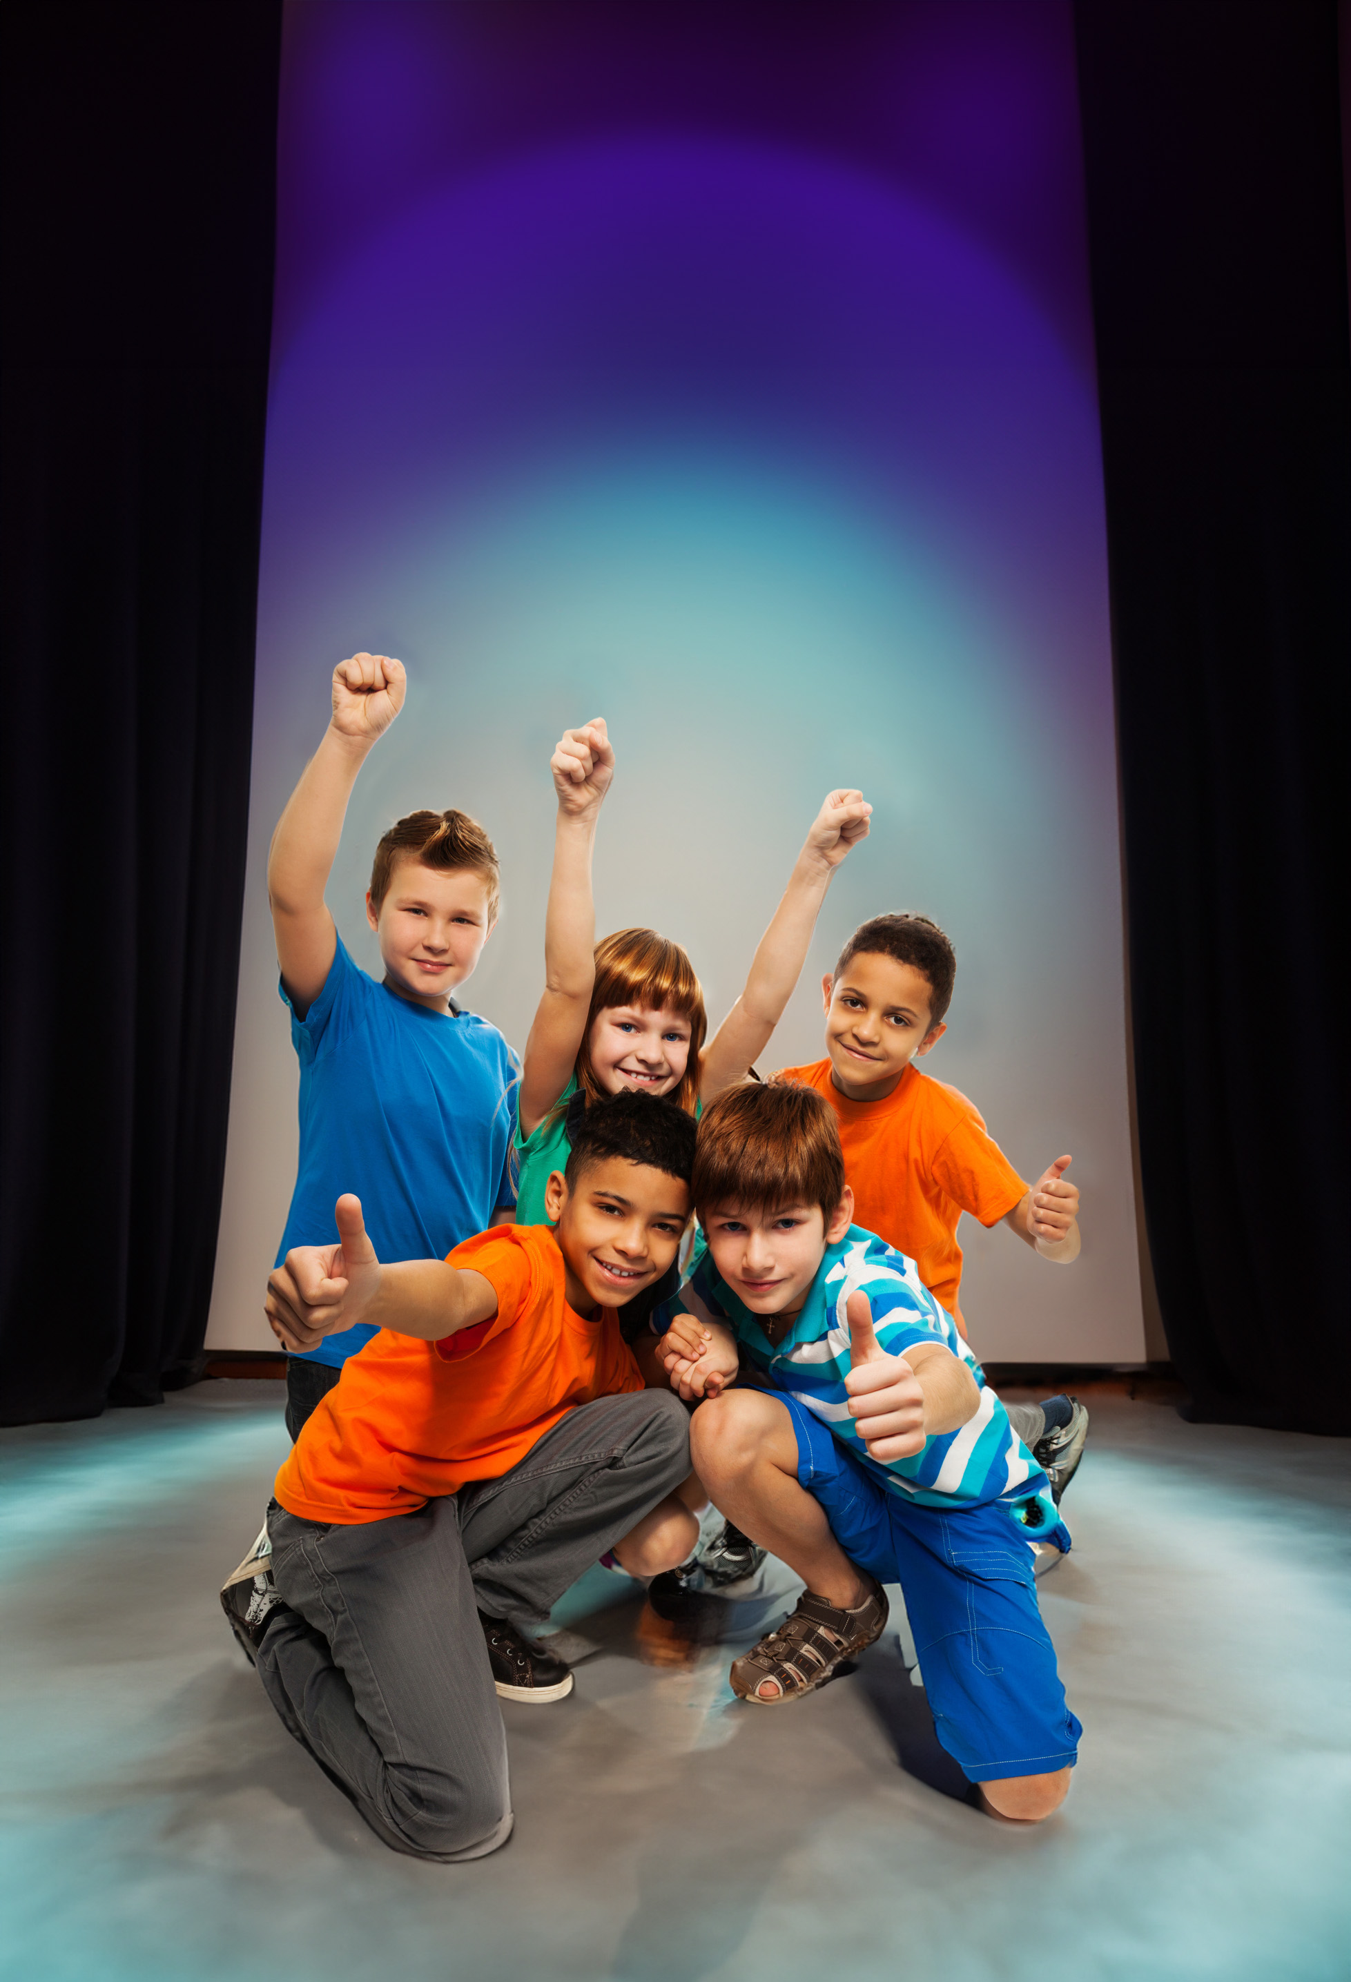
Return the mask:
[[[981,1391],[981,1403],[965,1425],[925,1439],[923,1449],[909,1459],[872,1459],[858,1435],[858,1421],[850,1417],[844,1387],[850,1372],[846,1302],[854,1292],[868,1294],[874,1334],[887,1356],[903,1356],[921,1342],[939,1342],[971,1370]],[[913,1259],[905,1259],[876,1233],[850,1225],[838,1245],[826,1247],[802,1312],[779,1344],[769,1340],[759,1318],[721,1278],[711,1253],[695,1263],[679,1292],[658,1310],[654,1330],[664,1332],[681,1310],[695,1320],[731,1328],[743,1362],[775,1389],[814,1411],[891,1492],[919,1506],[955,1508],[1002,1500],[1028,1534],[1056,1538],[1060,1512],[1046,1475],[1008,1423],[1004,1405],[987,1385],[951,1314],[921,1282]],[[1058,1546],[1070,1546],[1068,1534]]]

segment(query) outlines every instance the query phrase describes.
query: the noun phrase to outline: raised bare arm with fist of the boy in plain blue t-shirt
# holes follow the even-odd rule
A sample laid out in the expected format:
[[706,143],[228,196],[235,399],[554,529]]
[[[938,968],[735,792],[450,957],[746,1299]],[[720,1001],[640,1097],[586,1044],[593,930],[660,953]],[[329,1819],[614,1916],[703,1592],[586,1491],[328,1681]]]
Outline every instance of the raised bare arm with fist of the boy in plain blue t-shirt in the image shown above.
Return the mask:
[[333,717],[271,834],[267,902],[281,983],[303,1019],[333,967],[337,930],[323,898],[347,801],[366,751],[404,706],[404,664],[353,654],[333,670]]

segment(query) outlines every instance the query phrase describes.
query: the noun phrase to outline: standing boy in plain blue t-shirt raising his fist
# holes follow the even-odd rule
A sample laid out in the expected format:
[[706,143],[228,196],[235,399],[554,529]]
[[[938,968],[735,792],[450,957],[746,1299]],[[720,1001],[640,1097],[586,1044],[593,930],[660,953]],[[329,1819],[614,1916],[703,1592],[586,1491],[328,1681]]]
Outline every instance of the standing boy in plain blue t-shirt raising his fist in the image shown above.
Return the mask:
[[[333,719],[277,823],[267,900],[281,997],[301,1062],[301,1146],[277,1265],[337,1241],[333,1205],[355,1191],[380,1259],[444,1259],[487,1225],[511,1223],[515,1060],[495,1025],[452,999],[497,920],[497,854],[464,813],[412,813],[380,840],[366,920],[376,983],[347,953],[323,898],[357,773],[404,702],[402,662],[355,654],[333,670]],[[287,1362],[297,1437],[359,1326]]]

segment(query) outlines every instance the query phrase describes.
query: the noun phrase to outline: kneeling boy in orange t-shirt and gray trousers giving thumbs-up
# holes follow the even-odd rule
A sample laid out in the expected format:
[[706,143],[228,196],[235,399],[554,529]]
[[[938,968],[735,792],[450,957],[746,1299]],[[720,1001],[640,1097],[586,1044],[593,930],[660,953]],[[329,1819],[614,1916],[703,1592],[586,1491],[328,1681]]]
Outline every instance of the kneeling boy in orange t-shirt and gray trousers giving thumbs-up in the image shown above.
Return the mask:
[[693,1142],[672,1102],[620,1094],[549,1179],[553,1225],[382,1266],[343,1197],[341,1245],[297,1247],[267,1282],[287,1346],[380,1334],[305,1423],[267,1510],[271,1568],[226,1588],[226,1615],[287,1730],[394,1851],[505,1843],[497,1695],[572,1689],[529,1627],[606,1550],[656,1576],[693,1546],[685,1411],[644,1389],[618,1326],[676,1259]]

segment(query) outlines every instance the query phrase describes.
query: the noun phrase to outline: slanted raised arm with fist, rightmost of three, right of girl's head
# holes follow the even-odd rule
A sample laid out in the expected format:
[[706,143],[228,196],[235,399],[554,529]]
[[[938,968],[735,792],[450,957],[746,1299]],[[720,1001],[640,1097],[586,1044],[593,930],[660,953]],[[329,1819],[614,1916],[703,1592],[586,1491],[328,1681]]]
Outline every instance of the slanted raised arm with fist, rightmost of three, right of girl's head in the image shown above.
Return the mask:
[[775,920],[751,959],[747,987],[703,1048],[699,1096],[705,1108],[733,1080],[743,1080],[769,1045],[802,975],[826,888],[850,846],[868,838],[870,815],[862,791],[832,791],[816,815]]

